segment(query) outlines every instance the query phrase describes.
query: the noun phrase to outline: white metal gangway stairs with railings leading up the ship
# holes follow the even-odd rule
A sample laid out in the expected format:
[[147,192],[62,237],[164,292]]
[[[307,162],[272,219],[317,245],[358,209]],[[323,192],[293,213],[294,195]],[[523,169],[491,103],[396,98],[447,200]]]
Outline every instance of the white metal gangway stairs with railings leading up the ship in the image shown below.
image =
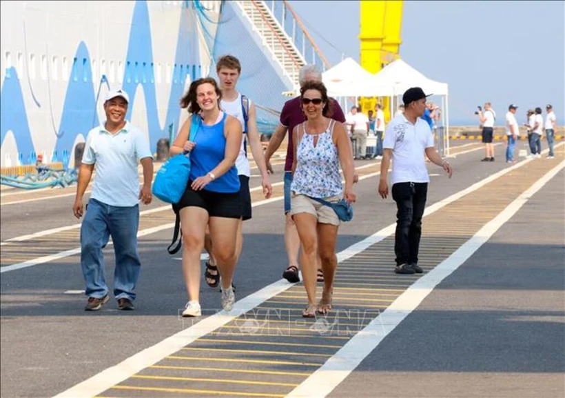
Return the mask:
[[[236,3],[263,39],[263,45],[283,69],[283,74],[289,79],[293,90],[299,88],[298,70],[305,63],[318,63],[322,70],[329,67],[298,15],[286,1],[243,0]],[[277,7],[280,8],[280,13],[276,12]],[[279,18],[277,14],[280,14]],[[287,19],[291,19],[290,23]],[[302,52],[298,49],[300,39]],[[306,52],[310,48],[313,56],[307,60]]]

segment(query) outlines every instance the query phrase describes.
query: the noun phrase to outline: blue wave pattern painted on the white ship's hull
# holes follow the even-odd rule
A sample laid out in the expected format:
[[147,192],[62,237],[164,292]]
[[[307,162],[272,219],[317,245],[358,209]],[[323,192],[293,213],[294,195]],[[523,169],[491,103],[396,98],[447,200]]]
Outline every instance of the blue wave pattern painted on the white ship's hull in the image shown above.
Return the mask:
[[[195,19],[196,16],[194,12],[191,12],[187,7],[182,8],[174,58],[174,62],[177,65],[195,66],[200,64],[198,33],[196,30],[197,22]],[[145,1],[136,1],[125,59],[147,63],[153,62],[151,37],[147,4]],[[92,129],[93,121],[94,126],[100,123],[96,115],[96,93],[92,86],[90,55],[88,46],[83,41],[79,43],[75,57],[76,59],[86,59],[87,61],[84,66],[79,63],[77,70],[71,70],[70,72],[61,122],[59,130],[57,130],[60,137],[56,140],[54,148],[54,150],[59,153],[63,152],[63,150],[71,150],[76,136],[79,134],[86,135],[86,133]],[[193,71],[198,71],[196,78],[200,77],[200,68],[193,68]],[[30,131],[28,114],[25,109],[23,92],[17,71],[15,68],[10,68],[6,72],[7,77],[3,81],[0,97],[0,102],[2,103],[0,112],[0,142],[3,143],[8,130],[12,130],[19,152],[29,154],[34,151],[32,134],[53,134],[53,128],[52,126],[45,126],[45,130],[43,131]],[[178,100],[183,94],[185,81],[189,72],[190,70],[188,68],[184,70],[184,74],[179,73],[178,70],[174,70],[176,77],[173,82],[170,83],[171,92],[167,104],[167,115],[164,126],[160,126],[156,106],[155,85],[151,83],[154,79],[150,76],[150,79],[145,79],[145,82],[141,80],[136,82],[131,77],[128,79],[128,72],[124,70],[122,87],[130,94],[130,106],[127,111],[127,118],[131,119],[136,89],[138,85],[141,85],[143,86],[143,92],[145,94],[147,127],[149,129],[152,148],[154,148],[154,144],[158,139],[168,137],[168,126],[170,123],[176,123],[178,121],[181,112],[178,106]],[[77,76],[78,78],[76,78]]]

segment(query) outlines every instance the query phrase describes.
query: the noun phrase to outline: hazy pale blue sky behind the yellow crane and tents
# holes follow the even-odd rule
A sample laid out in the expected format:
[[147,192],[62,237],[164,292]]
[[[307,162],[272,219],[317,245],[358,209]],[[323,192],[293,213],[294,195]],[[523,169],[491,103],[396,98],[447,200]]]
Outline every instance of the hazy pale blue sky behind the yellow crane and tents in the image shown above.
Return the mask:
[[[359,1],[290,3],[329,63],[359,61]],[[551,103],[565,123],[563,1],[404,1],[402,12],[400,57],[449,84],[451,125],[477,123],[487,101],[501,119],[516,103],[520,123]]]

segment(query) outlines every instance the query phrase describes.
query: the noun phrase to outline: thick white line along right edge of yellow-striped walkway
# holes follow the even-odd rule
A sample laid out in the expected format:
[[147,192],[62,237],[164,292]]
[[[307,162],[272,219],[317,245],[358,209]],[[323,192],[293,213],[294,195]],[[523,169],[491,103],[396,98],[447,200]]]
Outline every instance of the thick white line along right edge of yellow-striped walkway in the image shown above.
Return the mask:
[[426,275],[415,281],[393,303],[358,332],[333,357],[287,397],[326,397],[433,291],[438,283],[457,270],[473,253],[488,241],[501,226],[516,214],[537,191],[565,167],[565,161],[546,173],[530,188],[522,192],[494,219],[486,223],[471,239]]

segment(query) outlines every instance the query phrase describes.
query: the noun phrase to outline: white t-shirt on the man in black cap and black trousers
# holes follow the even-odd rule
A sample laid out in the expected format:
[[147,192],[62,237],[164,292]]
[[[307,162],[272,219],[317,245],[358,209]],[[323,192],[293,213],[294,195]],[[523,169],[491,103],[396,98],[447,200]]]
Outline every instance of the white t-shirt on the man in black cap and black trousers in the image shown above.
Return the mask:
[[398,115],[387,126],[382,148],[392,149],[392,185],[430,181],[424,151],[433,148],[433,135],[427,121],[418,117],[412,124]]

